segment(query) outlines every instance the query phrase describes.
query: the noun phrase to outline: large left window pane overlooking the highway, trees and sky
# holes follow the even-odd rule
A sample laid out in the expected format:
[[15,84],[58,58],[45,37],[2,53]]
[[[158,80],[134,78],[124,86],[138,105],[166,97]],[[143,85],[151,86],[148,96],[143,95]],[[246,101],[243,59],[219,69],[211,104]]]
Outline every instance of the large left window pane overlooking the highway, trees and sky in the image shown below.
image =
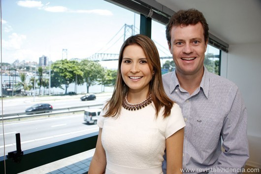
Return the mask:
[[[5,121],[0,125],[0,156],[16,150],[17,133],[25,150],[85,135],[89,130],[98,131],[97,125],[86,124],[83,111],[75,114],[69,111],[72,107],[84,110],[88,105],[103,104],[110,98],[113,86],[100,85],[101,79],[94,79],[87,89],[86,80],[75,73],[73,78],[63,79],[61,88],[50,88],[59,81],[52,72],[53,65],[61,60],[80,62],[88,58],[104,70],[117,69],[122,43],[130,35],[139,33],[139,15],[104,0],[5,0],[1,3],[1,84],[5,85],[6,93],[1,94]],[[69,71],[73,66],[68,66],[60,70],[65,70],[63,73],[77,71],[77,67]],[[65,92],[73,95],[65,95]],[[96,95],[95,101],[80,99],[86,93],[102,92],[107,95]],[[27,108],[39,103],[50,104],[52,111],[40,116],[25,114]],[[55,114],[57,112],[64,113]],[[7,114],[18,117],[17,113],[23,114],[15,120],[6,119]]]

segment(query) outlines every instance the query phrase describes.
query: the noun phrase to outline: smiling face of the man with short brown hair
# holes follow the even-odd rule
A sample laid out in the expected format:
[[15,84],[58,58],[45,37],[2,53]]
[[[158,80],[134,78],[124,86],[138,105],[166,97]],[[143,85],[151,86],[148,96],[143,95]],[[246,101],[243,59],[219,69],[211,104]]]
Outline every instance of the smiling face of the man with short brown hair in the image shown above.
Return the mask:
[[177,75],[203,75],[207,42],[201,23],[173,26],[170,30],[169,51],[176,65]]

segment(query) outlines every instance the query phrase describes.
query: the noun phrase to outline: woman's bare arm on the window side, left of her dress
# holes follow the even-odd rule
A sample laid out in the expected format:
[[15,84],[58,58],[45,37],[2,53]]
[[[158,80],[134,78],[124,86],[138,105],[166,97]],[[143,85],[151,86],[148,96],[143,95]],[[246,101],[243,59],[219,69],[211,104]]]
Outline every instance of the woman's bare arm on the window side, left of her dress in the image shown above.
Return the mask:
[[102,129],[99,128],[98,140],[88,174],[104,174],[106,168],[106,154],[101,144]]

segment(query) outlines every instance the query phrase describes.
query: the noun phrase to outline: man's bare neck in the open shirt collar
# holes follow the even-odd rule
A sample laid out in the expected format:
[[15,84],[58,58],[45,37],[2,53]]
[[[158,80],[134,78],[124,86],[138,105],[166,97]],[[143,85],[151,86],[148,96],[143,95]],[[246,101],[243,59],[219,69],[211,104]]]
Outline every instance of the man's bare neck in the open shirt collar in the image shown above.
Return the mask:
[[196,89],[200,86],[202,77],[203,77],[204,69],[193,75],[183,75],[176,71],[177,78],[179,80],[180,87],[185,89],[192,95]]

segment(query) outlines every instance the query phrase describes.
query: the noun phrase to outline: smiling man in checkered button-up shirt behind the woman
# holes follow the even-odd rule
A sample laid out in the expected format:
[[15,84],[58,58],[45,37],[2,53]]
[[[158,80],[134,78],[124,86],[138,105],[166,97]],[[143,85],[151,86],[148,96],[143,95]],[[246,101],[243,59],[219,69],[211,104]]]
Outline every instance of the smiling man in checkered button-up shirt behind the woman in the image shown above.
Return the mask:
[[249,158],[246,107],[233,82],[203,65],[208,42],[203,14],[178,11],[166,37],[176,68],[163,75],[164,89],[186,122],[183,173],[241,173]]

